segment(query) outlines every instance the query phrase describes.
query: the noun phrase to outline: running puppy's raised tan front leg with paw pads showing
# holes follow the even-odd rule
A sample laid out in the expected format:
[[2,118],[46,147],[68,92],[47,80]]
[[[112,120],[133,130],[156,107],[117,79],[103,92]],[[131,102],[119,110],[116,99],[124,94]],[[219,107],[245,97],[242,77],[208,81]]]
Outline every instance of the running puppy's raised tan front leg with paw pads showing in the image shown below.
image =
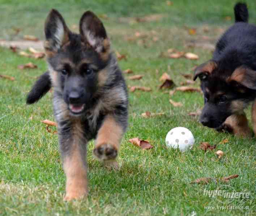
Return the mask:
[[114,116],[107,115],[98,131],[93,150],[94,155],[103,160],[107,168],[118,168],[116,156],[123,133],[123,128]]

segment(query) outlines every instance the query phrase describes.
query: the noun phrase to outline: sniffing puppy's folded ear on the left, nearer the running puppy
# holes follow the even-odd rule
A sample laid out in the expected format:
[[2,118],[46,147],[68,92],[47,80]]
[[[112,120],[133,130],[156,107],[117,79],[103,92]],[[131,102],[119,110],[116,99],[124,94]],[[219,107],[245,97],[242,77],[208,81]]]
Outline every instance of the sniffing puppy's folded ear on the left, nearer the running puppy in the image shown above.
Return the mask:
[[211,74],[215,69],[217,68],[217,63],[213,60],[209,60],[202,65],[199,65],[195,71],[194,71],[194,78],[195,81],[196,78],[199,76],[200,80],[204,80]]

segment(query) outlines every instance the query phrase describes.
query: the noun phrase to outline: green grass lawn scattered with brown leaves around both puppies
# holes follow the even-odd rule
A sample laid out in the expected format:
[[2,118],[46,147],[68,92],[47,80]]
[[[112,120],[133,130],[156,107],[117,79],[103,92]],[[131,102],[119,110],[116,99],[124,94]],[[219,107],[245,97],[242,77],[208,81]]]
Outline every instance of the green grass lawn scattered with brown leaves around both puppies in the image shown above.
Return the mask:
[[[256,145],[255,138],[238,138],[217,133],[202,127],[197,118],[188,116],[203,106],[200,93],[181,93],[169,96],[159,91],[159,77],[168,72],[179,85],[184,78],[180,73],[191,73],[191,68],[211,57],[211,51],[196,47],[187,48],[191,41],[212,43],[221,31],[234,21],[234,1],[0,1],[3,14],[0,38],[20,39],[31,34],[43,39],[43,22],[50,8],[63,13],[69,26],[78,24],[86,9],[96,14],[107,14],[104,25],[111,37],[112,48],[127,55],[121,60],[121,69],[132,69],[143,74],[142,80],[128,85],[150,86],[153,91],[136,91],[129,94],[129,128],[119,154],[119,171],[107,171],[91,154],[93,142],[88,145],[89,190],[88,199],[63,202],[65,175],[61,168],[57,136],[46,131],[40,120],[54,120],[51,97],[48,93],[37,104],[25,105],[27,92],[35,79],[46,70],[43,60],[28,59],[0,48],[0,74],[14,76],[15,81],[0,78],[0,215],[255,215]],[[256,4],[247,1],[250,22],[256,22]],[[135,6],[136,5],[136,6]],[[136,23],[128,18],[152,13],[164,14],[161,21]],[[233,21],[225,21],[232,16]],[[123,19],[122,19],[123,20]],[[196,27],[197,34],[189,35],[187,29]],[[209,27],[209,32],[203,28]],[[12,27],[22,31],[14,35]],[[152,32],[152,31],[155,32]],[[145,44],[127,40],[135,32],[146,34]],[[153,36],[159,38],[153,41]],[[208,39],[202,38],[207,36]],[[192,61],[185,58],[159,58],[168,48],[193,52],[200,56]],[[18,70],[27,62],[38,65],[35,70]],[[156,70],[159,73],[156,73]],[[125,75],[127,77],[127,75]],[[199,86],[197,81],[196,86]],[[180,101],[183,107],[173,107],[169,99]],[[145,119],[141,113],[164,112],[165,115]],[[250,110],[247,110],[248,118]],[[30,118],[31,117],[31,118]],[[250,121],[251,125],[251,121]],[[166,149],[165,136],[174,127],[189,128],[195,136],[191,151],[180,153]],[[149,140],[154,148],[140,150],[128,142],[129,138]],[[213,152],[204,153],[200,142],[218,144],[216,150],[225,155],[217,159]],[[247,200],[235,199],[232,206],[249,206],[249,210],[205,210],[204,206],[222,206],[216,198],[203,195],[204,189],[216,190],[222,183],[194,185],[190,182],[201,177],[225,177],[238,174],[228,185],[235,191],[251,193]]]

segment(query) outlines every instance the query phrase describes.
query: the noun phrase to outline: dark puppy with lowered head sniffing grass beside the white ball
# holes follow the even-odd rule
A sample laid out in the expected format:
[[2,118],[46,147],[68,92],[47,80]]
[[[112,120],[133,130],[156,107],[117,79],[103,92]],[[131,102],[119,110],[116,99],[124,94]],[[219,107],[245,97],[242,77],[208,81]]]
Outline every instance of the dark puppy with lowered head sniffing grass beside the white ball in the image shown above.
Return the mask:
[[[213,58],[195,69],[204,108],[200,122],[210,128],[250,135],[244,108],[256,99],[256,26],[248,24],[246,4],[234,7],[235,24],[219,39]],[[256,133],[256,102],[252,105]]]

